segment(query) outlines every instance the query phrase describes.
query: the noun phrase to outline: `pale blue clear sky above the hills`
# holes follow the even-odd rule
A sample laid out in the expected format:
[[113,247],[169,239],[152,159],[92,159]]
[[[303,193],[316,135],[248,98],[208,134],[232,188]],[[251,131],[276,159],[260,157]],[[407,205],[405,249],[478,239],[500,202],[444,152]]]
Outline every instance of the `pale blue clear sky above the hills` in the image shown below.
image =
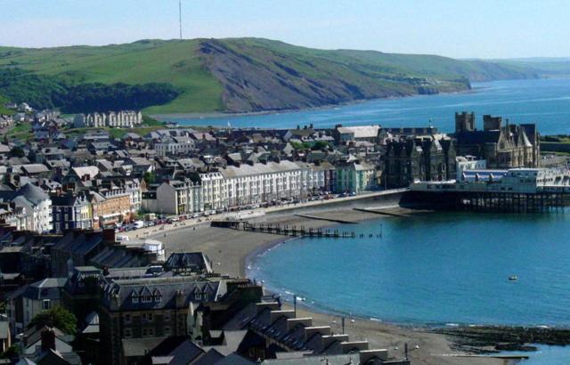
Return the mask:
[[[569,0],[182,0],[183,37],[454,58],[570,57]],[[178,0],[0,0],[0,45],[179,37]]]

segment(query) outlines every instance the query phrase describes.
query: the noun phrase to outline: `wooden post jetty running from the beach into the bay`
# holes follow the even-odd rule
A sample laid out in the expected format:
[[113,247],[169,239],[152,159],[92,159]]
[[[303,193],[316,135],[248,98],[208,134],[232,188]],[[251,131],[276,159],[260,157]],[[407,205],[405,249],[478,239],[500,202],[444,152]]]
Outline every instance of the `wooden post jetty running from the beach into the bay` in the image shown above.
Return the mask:
[[279,234],[281,236],[291,237],[314,237],[314,238],[332,238],[332,239],[354,239],[356,233],[354,231],[339,231],[322,228],[308,228],[288,224],[271,224],[271,223],[249,223],[243,221],[213,221],[212,227],[230,228],[239,231],[252,231],[259,233]]

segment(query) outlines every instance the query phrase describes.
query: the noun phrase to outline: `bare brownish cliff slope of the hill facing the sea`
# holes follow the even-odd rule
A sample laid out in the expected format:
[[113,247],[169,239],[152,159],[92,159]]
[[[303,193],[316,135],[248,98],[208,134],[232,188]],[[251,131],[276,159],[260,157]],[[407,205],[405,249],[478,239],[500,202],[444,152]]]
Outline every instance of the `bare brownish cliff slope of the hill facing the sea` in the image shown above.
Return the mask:
[[415,77],[389,68],[373,69],[373,65],[334,54],[300,57],[260,45],[218,40],[201,42],[198,52],[208,71],[223,85],[222,101],[232,112],[296,110],[470,88],[467,78]]

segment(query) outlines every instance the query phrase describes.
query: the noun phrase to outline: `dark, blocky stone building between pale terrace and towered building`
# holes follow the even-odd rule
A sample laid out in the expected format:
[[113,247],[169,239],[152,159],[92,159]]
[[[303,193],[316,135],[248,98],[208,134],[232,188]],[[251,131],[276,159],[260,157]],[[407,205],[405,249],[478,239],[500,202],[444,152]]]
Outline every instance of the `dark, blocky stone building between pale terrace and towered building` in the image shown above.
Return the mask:
[[383,183],[387,188],[414,181],[455,178],[455,148],[445,134],[418,135],[387,140]]

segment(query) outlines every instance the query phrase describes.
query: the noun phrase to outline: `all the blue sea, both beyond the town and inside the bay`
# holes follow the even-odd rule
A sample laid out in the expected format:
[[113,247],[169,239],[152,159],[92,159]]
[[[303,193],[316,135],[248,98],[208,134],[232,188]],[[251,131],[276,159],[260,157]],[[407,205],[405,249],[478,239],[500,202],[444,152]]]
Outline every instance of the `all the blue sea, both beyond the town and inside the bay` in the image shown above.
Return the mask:
[[[453,132],[454,113],[463,110],[476,113],[479,128],[481,116],[492,114],[536,123],[541,134],[570,134],[570,79],[494,81],[474,84],[468,93],[170,120],[260,128],[431,124]],[[297,296],[314,309],[371,320],[570,327],[570,210],[384,217],[349,229],[358,238],[295,239],[273,247],[253,258],[248,276],[285,300]],[[570,363],[570,348],[540,346],[524,363]]]

